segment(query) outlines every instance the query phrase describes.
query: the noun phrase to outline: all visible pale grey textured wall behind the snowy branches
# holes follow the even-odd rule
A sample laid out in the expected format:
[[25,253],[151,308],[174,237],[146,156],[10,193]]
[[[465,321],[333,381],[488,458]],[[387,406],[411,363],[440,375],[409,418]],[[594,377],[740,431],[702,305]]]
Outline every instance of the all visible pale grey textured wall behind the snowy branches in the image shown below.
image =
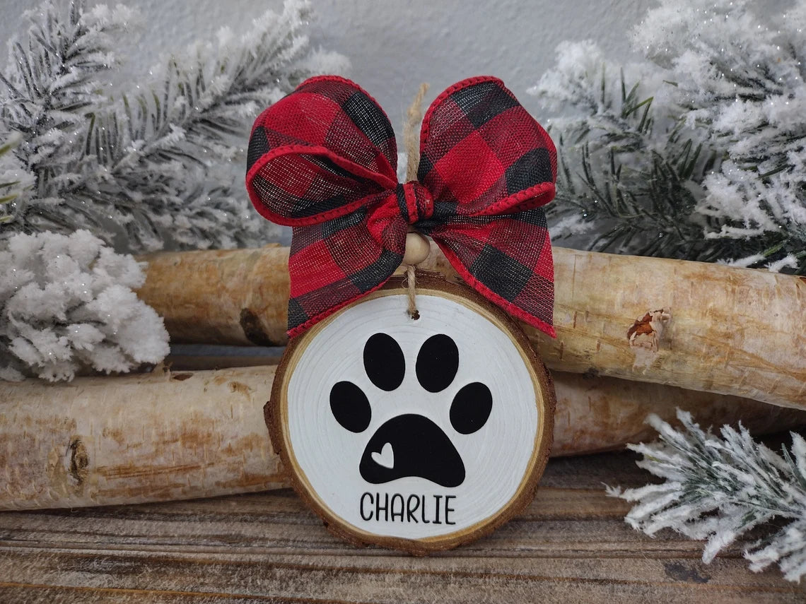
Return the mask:
[[[116,4],[119,0],[109,0]],[[36,0],[38,3],[38,0]],[[421,81],[430,98],[463,77],[501,77],[527,109],[526,95],[554,60],[563,39],[596,39],[626,56],[626,32],[647,0],[313,0],[314,41],[347,55],[351,77],[375,96],[400,129],[402,115]],[[144,17],[139,39],[123,48],[133,77],[160,53],[182,48],[219,27],[237,31],[281,0],[123,0]],[[19,28],[32,0],[0,0],[0,40]]]

